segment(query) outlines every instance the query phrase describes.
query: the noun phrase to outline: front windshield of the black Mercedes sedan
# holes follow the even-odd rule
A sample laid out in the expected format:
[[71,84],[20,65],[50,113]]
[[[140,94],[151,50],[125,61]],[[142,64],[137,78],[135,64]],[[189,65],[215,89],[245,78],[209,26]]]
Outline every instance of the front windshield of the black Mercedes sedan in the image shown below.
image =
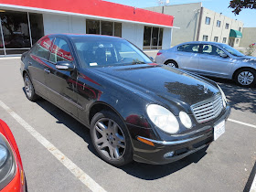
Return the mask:
[[152,63],[144,53],[122,38],[74,37],[83,68]]

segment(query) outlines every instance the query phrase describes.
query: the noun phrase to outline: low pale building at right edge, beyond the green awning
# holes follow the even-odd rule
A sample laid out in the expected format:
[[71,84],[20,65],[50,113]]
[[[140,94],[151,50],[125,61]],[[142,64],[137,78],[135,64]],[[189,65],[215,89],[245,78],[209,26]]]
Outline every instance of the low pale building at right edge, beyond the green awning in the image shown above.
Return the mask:
[[240,39],[240,47],[248,48],[253,43],[256,43],[256,27],[244,27],[242,38]]

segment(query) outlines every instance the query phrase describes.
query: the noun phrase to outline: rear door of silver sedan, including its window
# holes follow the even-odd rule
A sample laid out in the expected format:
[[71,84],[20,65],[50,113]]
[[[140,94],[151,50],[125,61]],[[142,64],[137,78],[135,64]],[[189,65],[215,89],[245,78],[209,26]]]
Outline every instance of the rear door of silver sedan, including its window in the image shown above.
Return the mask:
[[199,44],[185,44],[177,47],[176,56],[180,69],[197,71],[199,65]]

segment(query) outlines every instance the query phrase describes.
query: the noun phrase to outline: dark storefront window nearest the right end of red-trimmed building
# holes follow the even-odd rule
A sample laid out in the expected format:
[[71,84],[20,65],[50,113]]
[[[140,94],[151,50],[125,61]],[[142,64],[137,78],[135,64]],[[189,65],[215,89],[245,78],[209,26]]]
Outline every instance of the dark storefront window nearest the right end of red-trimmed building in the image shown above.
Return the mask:
[[163,28],[144,27],[144,49],[162,49]]

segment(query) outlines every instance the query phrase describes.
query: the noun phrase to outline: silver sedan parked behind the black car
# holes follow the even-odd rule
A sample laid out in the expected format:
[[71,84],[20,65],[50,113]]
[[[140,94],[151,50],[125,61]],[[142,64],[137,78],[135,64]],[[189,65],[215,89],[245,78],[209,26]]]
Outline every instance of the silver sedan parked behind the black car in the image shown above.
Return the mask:
[[256,84],[256,58],[216,42],[187,42],[160,50],[155,62],[200,75],[229,79],[240,86]]

